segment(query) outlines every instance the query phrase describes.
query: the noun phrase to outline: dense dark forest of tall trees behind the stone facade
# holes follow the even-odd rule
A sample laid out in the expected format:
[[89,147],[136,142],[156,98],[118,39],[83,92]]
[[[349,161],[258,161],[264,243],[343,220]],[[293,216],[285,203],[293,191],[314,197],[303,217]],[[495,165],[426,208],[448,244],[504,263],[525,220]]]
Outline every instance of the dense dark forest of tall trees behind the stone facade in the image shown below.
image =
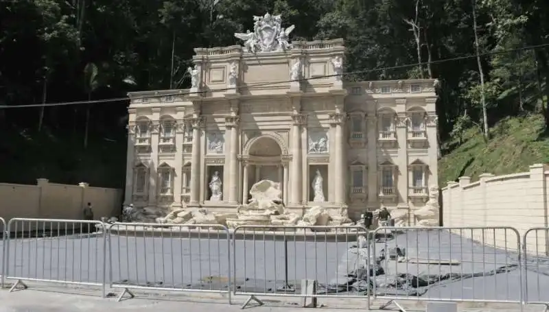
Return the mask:
[[438,78],[443,154],[505,117],[549,124],[547,0],[4,0],[0,180],[121,186],[126,93],[188,87],[194,47],[265,12],[293,40],[344,38],[348,80]]

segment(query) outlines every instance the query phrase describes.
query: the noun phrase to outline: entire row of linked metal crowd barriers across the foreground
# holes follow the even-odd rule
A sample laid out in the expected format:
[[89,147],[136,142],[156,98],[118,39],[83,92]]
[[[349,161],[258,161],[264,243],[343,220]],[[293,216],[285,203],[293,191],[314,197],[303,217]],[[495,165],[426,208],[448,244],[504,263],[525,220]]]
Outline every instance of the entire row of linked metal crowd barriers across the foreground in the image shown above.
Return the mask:
[[[16,280],[144,291],[544,304],[549,228],[123,224],[11,219],[1,285]],[[108,226],[108,228],[107,228]],[[10,237],[11,234],[11,237]],[[361,237],[362,236],[362,237]],[[231,239],[232,237],[232,239]],[[231,243],[233,244],[231,248]],[[498,246],[498,247],[493,247]],[[108,267],[107,267],[108,265]]]

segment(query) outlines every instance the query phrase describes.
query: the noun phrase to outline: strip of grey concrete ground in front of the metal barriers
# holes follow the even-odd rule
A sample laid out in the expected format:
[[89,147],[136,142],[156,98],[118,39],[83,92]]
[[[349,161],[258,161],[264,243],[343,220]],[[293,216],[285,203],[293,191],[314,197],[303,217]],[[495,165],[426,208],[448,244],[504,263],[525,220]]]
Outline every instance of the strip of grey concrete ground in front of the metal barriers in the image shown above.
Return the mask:
[[[115,296],[101,298],[98,290],[74,289],[56,285],[28,284],[29,289],[14,291],[8,289],[0,291],[0,312],[84,312],[84,311],[159,311],[159,312],[209,312],[242,311],[241,305],[246,297],[233,298],[233,304],[220,295],[196,293],[135,293],[136,298],[116,302]],[[113,293],[113,295],[115,295]],[[279,301],[264,300],[262,307],[250,304],[244,309],[250,312],[297,312],[307,311],[300,307],[299,298],[289,298]],[[379,311],[379,306],[385,301],[373,301],[371,311]],[[424,302],[399,302],[406,311],[425,311]],[[325,312],[367,309],[366,299],[331,299],[319,298],[320,309]],[[398,311],[394,305],[387,309]],[[526,306],[526,312],[541,312],[543,306]],[[458,311],[519,311],[518,304],[474,304],[460,303]]]

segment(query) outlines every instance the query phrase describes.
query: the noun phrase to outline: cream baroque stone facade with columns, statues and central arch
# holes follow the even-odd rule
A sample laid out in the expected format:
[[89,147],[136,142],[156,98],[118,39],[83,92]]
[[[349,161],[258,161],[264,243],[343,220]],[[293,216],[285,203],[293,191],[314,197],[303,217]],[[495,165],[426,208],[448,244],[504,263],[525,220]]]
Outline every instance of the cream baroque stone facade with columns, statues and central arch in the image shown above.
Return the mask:
[[415,224],[438,184],[436,80],[347,82],[343,40],[290,44],[280,16],[254,20],[244,47],[195,49],[190,89],[129,94],[125,203],[230,212],[272,180],[296,213]]

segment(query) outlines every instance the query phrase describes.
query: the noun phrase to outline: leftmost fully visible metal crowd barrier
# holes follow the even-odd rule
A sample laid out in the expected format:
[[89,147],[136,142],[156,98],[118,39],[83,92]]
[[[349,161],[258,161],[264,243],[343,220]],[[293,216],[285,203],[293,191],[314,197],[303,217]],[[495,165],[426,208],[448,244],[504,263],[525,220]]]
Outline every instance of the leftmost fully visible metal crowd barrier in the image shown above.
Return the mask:
[[[5,248],[5,279],[102,287],[105,296],[105,227],[101,221],[14,218]],[[95,232],[95,233],[94,233]],[[94,234],[92,234],[94,233]]]

